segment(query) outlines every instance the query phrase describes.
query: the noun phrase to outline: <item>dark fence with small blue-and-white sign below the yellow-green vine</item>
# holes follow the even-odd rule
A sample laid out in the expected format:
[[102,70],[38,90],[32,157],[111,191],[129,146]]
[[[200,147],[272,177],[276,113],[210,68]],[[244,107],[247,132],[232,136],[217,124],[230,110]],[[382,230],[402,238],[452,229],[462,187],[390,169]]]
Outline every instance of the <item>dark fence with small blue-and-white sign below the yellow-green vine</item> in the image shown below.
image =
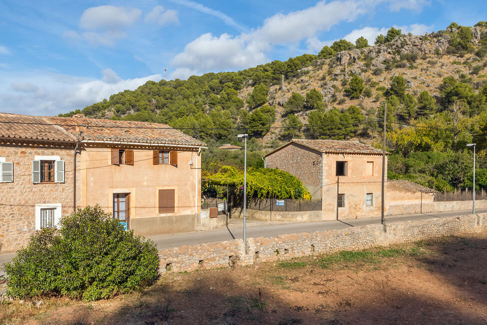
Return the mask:
[[[233,207],[243,207],[243,200],[234,201]],[[247,208],[260,211],[319,211],[321,199],[263,198],[250,199]]]

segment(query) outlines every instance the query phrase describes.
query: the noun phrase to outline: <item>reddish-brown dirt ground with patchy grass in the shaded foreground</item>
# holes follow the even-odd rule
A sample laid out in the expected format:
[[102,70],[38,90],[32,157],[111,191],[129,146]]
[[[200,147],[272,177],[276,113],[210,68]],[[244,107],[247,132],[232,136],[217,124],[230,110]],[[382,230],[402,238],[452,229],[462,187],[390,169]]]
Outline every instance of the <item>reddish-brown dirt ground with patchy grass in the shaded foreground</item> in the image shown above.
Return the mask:
[[487,233],[167,273],[110,300],[0,305],[0,323],[487,323]]

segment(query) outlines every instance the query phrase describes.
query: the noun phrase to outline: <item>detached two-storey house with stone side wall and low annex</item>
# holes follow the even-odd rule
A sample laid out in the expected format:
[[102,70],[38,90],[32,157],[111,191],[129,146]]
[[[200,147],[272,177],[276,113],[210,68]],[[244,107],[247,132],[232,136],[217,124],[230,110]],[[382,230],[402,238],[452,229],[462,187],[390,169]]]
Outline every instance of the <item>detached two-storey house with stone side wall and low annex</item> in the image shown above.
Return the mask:
[[[298,177],[313,198],[322,199],[323,220],[381,215],[382,150],[358,141],[293,139],[265,155],[268,168]],[[387,175],[387,155],[386,155]],[[409,182],[410,183],[410,182]],[[401,202],[420,193],[394,183],[386,202]],[[419,186],[419,185],[418,185]],[[425,187],[426,188],[426,187]],[[426,200],[433,201],[432,195]],[[387,213],[387,206],[386,206]]]

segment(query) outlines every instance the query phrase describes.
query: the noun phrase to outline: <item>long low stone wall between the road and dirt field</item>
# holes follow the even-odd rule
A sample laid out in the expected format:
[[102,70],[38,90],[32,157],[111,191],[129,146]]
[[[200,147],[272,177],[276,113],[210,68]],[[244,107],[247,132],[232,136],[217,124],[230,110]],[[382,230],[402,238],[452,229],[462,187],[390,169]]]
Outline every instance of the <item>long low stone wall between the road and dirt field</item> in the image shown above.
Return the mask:
[[446,235],[487,230],[487,213],[427,220],[355,226],[346,229],[248,238],[171,247],[159,251],[161,271],[194,271],[259,261],[289,259],[314,253],[328,254]]

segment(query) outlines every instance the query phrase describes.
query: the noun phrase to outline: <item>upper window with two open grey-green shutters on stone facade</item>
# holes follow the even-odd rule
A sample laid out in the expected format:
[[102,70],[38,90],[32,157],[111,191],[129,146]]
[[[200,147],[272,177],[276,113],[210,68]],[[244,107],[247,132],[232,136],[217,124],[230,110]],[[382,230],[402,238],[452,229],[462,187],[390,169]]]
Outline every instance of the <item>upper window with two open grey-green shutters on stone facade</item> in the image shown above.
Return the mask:
[[63,183],[64,161],[59,156],[35,156],[32,160],[32,182]]

